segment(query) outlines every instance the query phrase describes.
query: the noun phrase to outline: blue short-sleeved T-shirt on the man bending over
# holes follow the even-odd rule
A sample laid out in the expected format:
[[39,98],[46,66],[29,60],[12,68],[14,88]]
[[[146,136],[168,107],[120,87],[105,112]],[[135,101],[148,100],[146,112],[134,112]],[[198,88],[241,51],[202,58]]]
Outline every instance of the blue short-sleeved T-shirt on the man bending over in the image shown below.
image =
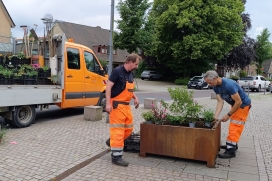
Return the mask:
[[230,105],[234,105],[234,100],[231,98],[231,95],[234,95],[238,92],[242,105],[241,108],[251,104],[250,98],[247,96],[245,91],[237,84],[234,80],[222,78],[222,84],[213,87],[213,90],[216,94],[219,94],[222,99],[224,99]]

